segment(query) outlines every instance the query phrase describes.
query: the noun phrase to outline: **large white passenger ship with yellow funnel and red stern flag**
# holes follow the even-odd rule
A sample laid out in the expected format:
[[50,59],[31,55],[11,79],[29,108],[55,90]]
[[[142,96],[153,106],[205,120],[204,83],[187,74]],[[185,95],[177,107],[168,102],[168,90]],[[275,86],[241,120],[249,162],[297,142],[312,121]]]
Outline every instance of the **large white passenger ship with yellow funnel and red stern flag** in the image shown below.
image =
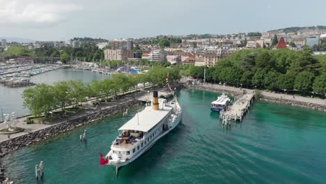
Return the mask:
[[146,104],[145,109],[118,129],[119,135],[105,160],[101,157],[101,163],[115,166],[118,176],[119,168],[139,158],[158,139],[176,128],[181,116],[182,109],[176,97],[166,102],[165,99],[158,99],[157,91],[153,91],[153,100]]

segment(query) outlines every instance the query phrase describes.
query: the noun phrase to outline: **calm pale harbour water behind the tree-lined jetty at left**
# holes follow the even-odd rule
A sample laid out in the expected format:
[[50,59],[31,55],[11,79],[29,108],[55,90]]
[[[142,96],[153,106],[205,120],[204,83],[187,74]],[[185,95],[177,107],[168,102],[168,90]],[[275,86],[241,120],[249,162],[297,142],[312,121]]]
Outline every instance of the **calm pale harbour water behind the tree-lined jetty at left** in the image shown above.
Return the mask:
[[[54,84],[54,82],[81,79],[88,83],[92,82],[93,79],[102,80],[108,77],[109,75],[102,75],[97,72],[79,70],[76,68],[59,68],[58,70],[52,70],[33,76],[31,77],[31,82],[36,84]],[[28,87],[7,88],[0,85],[0,108],[3,107],[3,112],[5,114],[10,114],[11,112],[16,112],[18,116],[29,114],[29,110],[22,107],[22,92],[27,88]]]

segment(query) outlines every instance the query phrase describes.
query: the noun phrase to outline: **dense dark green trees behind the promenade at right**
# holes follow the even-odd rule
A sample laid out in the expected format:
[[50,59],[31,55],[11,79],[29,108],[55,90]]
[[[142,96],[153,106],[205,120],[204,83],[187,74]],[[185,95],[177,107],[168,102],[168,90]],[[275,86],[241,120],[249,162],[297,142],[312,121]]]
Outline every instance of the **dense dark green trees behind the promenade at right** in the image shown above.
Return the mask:
[[[203,67],[190,68],[189,75],[203,79]],[[288,49],[242,50],[207,68],[206,81],[234,86],[326,93],[326,56]]]

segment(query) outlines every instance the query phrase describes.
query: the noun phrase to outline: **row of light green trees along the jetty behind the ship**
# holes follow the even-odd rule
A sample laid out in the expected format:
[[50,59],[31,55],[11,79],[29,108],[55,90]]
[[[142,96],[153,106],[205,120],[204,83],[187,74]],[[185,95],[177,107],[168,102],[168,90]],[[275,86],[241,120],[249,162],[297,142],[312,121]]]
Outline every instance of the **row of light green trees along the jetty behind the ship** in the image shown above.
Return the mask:
[[57,82],[54,85],[37,84],[35,87],[26,89],[23,92],[25,108],[39,116],[48,116],[52,109],[61,108],[63,111],[67,105],[75,105],[77,108],[80,102],[89,98],[107,100],[111,95],[125,93],[130,89],[137,89],[138,84],[150,83],[153,85],[164,85],[166,75],[169,73],[171,81],[180,79],[179,70],[173,68],[154,68],[146,75],[117,74],[111,79],[93,81],[91,84],[84,84],[79,80]]

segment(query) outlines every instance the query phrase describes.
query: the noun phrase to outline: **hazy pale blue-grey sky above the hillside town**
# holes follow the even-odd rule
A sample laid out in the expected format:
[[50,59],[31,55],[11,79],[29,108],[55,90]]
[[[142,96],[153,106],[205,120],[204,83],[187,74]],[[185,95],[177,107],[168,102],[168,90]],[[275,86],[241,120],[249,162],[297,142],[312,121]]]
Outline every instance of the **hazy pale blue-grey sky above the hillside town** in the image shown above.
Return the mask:
[[140,38],[326,25],[325,0],[0,0],[0,37]]

